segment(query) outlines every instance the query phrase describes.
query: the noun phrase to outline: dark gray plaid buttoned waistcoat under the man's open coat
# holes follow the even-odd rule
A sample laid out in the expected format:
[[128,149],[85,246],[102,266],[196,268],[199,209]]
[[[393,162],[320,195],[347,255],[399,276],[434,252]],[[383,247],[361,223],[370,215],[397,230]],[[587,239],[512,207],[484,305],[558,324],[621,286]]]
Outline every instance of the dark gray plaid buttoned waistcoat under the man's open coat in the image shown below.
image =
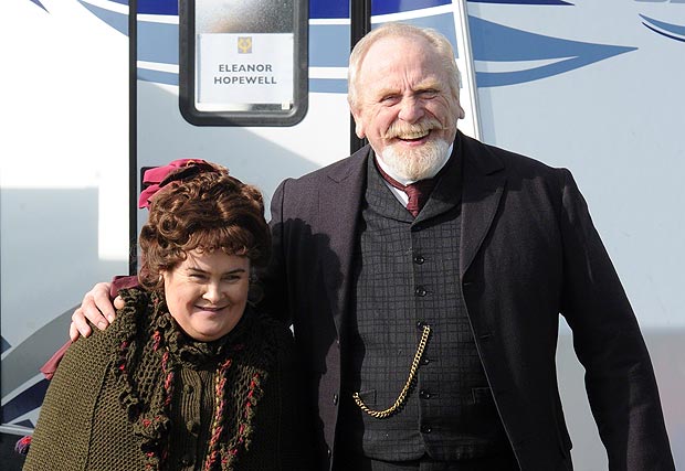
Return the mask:
[[461,295],[461,171],[454,156],[447,165],[414,220],[369,159],[348,387],[369,408],[389,408],[408,379],[421,325],[431,327],[414,387],[396,414],[377,419],[349,399],[344,405],[352,417],[344,415],[346,446],[369,458],[460,460],[509,449]]

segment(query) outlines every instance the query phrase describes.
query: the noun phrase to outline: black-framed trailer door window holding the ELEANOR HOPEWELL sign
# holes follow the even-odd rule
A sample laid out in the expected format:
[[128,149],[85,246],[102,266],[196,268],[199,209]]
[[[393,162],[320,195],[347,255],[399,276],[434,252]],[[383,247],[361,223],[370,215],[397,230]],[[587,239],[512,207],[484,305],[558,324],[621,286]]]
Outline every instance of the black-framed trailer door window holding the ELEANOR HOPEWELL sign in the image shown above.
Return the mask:
[[[175,0],[176,1],[176,0]],[[196,126],[307,114],[308,0],[179,0],[179,110]]]

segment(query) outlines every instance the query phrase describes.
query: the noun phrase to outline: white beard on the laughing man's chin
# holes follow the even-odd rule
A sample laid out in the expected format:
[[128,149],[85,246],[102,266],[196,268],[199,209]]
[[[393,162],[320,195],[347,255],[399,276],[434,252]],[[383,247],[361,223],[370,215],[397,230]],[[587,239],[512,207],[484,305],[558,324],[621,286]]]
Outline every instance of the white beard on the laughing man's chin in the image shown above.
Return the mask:
[[429,140],[417,149],[398,151],[396,146],[388,146],[381,159],[393,174],[403,181],[431,179],[438,174],[447,160],[450,143],[444,139]]

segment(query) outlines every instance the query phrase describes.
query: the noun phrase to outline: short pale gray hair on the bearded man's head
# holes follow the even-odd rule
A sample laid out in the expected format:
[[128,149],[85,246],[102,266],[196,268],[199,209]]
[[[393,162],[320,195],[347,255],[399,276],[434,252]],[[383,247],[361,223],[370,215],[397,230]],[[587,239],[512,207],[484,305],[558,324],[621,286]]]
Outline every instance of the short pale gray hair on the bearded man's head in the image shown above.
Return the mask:
[[429,44],[435,47],[435,52],[440,57],[442,57],[445,71],[447,71],[452,95],[459,99],[461,76],[456,62],[454,61],[454,51],[452,50],[452,44],[450,41],[447,41],[444,35],[430,28],[418,28],[405,23],[386,23],[376,28],[359,40],[349,56],[349,67],[347,69],[347,100],[351,108],[357,106],[357,81],[359,79],[361,64],[369,52],[369,49],[371,49],[373,43],[382,38],[408,36],[423,38],[429,42]]

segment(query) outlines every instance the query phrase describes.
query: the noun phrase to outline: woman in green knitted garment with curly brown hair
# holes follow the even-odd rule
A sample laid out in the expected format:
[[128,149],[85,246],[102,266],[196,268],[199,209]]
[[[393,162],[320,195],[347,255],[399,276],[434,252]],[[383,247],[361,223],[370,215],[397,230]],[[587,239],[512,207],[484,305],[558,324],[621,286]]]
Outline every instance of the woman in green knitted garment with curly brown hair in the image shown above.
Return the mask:
[[291,332],[247,304],[271,249],[260,192],[204,161],[148,173],[141,288],[68,347],[24,470],[306,469]]

